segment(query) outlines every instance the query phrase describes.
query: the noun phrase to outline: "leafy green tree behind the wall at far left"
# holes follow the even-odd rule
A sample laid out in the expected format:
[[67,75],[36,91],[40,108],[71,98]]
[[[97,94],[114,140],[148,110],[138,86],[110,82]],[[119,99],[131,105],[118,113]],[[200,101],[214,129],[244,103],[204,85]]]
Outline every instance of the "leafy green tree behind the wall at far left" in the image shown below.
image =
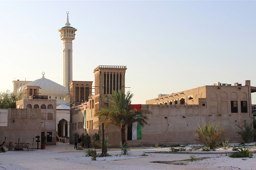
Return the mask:
[[16,108],[16,101],[21,99],[21,94],[16,97],[13,92],[7,90],[0,92],[0,108]]

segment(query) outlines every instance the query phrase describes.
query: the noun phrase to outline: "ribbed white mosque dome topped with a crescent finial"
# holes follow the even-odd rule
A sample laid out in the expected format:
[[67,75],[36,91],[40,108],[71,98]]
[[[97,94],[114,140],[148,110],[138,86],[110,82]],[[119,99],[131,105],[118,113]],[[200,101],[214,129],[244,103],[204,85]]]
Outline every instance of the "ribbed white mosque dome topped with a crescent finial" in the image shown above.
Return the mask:
[[24,87],[26,86],[39,86],[39,95],[66,97],[68,94],[68,89],[66,87],[59,85],[52,80],[44,78],[44,76],[40,79],[21,86],[17,91],[18,94],[24,93]]

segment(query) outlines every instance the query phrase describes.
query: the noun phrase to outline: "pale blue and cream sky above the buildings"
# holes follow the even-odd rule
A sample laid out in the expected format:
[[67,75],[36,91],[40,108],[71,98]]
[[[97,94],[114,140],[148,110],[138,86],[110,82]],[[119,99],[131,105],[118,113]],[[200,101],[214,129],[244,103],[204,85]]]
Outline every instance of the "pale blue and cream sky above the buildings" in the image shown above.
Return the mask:
[[[59,29],[77,29],[73,80],[125,65],[133,104],[215,82],[256,86],[255,1],[0,1],[0,91],[42,77],[63,85]],[[94,83],[93,83],[94,84]],[[256,94],[252,93],[252,104]]]

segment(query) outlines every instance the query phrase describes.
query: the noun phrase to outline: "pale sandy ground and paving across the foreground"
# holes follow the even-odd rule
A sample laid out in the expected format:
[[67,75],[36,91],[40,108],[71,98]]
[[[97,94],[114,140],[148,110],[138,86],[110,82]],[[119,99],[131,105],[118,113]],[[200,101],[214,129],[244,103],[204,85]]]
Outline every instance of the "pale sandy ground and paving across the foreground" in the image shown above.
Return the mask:
[[[92,161],[85,157],[84,151],[74,150],[74,145],[57,144],[46,146],[46,150],[36,151],[8,151],[0,153],[0,170],[23,169],[256,169],[256,158],[230,158],[225,156],[226,150],[219,149],[218,154],[162,154],[145,152],[169,151],[169,148],[134,148],[129,155],[120,155],[118,149],[109,149],[111,157],[97,158]],[[254,147],[253,147],[254,148]],[[230,150],[230,149],[229,149]],[[100,149],[97,150],[100,153]],[[214,153],[214,152],[213,152]],[[169,165],[152,163],[153,161],[174,161],[189,159],[190,155],[196,158],[211,157],[201,161],[187,161],[186,165]],[[255,154],[256,156],[256,154]],[[245,159],[245,160],[244,160]]]

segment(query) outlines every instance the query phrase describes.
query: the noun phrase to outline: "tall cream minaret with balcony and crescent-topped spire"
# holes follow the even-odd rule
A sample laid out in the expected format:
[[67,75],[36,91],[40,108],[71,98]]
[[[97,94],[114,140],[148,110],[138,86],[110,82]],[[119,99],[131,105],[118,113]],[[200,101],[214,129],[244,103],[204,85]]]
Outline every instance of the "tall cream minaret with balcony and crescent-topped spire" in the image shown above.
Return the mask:
[[68,11],[67,11],[67,23],[64,27],[59,29],[60,40],[63,41],[63,74],[64,82],[63,86],[68,87],[68,84],[72,81],[72,40],[75,39],[76,28],[70,26],[68,21]]

